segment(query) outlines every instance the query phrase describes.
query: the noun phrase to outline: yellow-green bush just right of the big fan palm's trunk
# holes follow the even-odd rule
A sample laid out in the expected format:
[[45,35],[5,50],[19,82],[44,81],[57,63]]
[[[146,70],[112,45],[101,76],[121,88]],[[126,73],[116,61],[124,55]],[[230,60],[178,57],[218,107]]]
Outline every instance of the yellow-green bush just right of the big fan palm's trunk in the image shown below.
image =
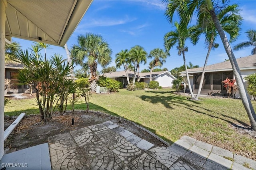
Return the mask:
[[100,76],[97,84],[101,87],[106,87],[108,92],[118,92],[118,88],[123,86],[122,82],[113,80],[105,76]]

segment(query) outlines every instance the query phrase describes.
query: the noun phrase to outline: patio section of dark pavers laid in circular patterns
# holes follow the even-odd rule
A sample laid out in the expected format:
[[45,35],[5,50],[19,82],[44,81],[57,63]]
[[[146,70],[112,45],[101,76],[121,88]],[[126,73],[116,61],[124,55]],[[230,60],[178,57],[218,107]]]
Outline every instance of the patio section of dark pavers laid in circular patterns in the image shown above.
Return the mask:
[[174,152],[110,121],[52,136],[49,146],[52,170],[192,170]]

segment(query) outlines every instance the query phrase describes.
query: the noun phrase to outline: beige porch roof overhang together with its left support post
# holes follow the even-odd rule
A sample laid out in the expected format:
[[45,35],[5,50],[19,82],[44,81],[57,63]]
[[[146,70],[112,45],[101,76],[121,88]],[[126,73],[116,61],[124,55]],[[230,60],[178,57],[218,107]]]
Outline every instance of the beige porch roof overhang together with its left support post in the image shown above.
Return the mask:
[[0,159],[4,154],[4,46],[11,37],[64,46],[92,0],[0,0]]

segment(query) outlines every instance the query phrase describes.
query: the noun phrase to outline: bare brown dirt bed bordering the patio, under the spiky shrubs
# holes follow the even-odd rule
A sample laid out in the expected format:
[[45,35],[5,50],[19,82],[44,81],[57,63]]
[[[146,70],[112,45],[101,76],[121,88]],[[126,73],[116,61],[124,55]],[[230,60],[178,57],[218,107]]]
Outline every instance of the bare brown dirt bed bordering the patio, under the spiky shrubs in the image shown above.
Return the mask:
[[[14,118],[8,118],[6,116],[4,128],[8,128],[14,121]],[[74,118],[74,125],[72,125],[72,118]],[[53,121],[47,124],[40,124],[39,115],[25,116],[13,132],[4,141],[5,150],[21,150],[38,144],[48,142],[48,137],[63,134],[76,130],[85,126],[94,124],[100,124],[106,121],[112,121],[133,134],[145,139],[157,146],[166,146],[160,140],[150,135],[148,132],[134,126],[133,123],[128,120],[122,120],[119,123],[119,119],[116,116],[110,116],[108,114],[100,112],[89,112],[88,114],[78,111],[77,113],[66,113],[66,115],[54,114]],[[7,152],[8,153],[8,152]]]

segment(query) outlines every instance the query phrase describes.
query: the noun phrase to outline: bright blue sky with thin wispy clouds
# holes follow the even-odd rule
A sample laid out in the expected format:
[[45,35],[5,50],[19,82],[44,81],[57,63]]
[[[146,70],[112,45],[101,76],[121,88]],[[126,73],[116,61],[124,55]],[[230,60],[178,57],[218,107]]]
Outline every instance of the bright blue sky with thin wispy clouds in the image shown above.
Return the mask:
[[[241,16],[243,17],[242,29],[238,40],[231,44],[234,46],[240,42],[248,40],[246,38],[246,30],[256,29],[256,0],[231,0],[230,4],[238,4],[241,9]],[[71,48],[76,44],[77,36],[90,32],[93,34],[101,34],[104,40],[108,42],[113,51],[112,63],[110,66],[115,66],[115,55],[121,50],[128,49],[135,45],[144,47],[149,54],[154,48],[164,49],[164,34],[174,30],[166,20],[164,15],[166,6],[161,0],[94,0],[87,10],[84,18],[69,38],[67,45]],[[173,21],[178,18],[174,18]],[[196,20],[193,19],[191,24],[195,24]],[[33,42],[13,38],[13,41],[20,42],[22,49],[30,47]],[[220,38],[217,41],[220,46],[212,50],[208,65],[223,62],[228,59],[226,52],[223,48]],[[201,36],[200,42],[193,46],[189,41],[186,42],[188,52],[185,53],[186,61],[192,62],[194,65],[203,66],[207,49],[204,44],[204,36]],[[66,58],[66,52],[62,47],[50,46],[47,49],[47,55],[58,53]],[[250,55],[252,48],[234,52],[236,58]],[[162,68],[166,67],[172,70],[175,67],[184,64],[182,56],[178,56],[176,48],[170,50],[170,56],[166,59],[166,63]],[[140,70],[148,68],[148,59],[146,65],[140,65]],[[79,69],[80,67],[76,67]],[[98,65],[98,71],[102,67]],[[118,69],[123,70],[123,68]]]

